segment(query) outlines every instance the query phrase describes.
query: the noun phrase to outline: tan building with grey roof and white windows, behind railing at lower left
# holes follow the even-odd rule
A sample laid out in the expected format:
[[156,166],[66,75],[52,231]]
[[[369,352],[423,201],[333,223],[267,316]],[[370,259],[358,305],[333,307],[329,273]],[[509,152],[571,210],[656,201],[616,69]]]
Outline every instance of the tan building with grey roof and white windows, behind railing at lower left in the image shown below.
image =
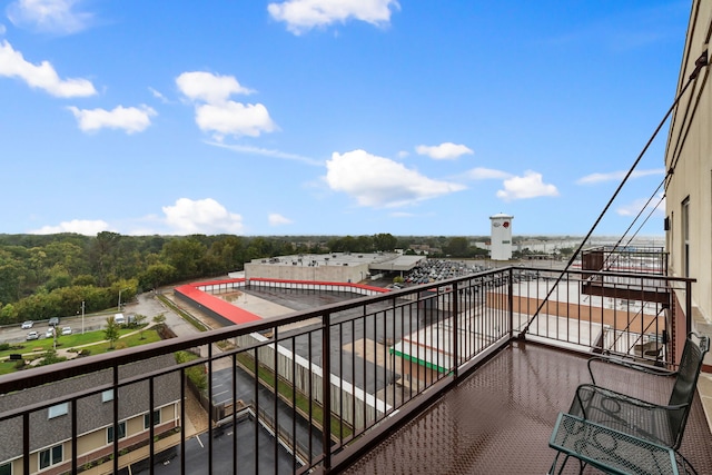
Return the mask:
[[[127,379],[158,372],[175,365],[172,356],[165,355],[118,368],[119,378]],[[152,419],[154,434],[174,434],[180,422],[180,375],[169,373],[154,379],[154,407],[148,406],[148,382],[127,384],[115,394],[110,387],[111,372],[103,370],[65,379],[51,385],[4,394],[0,396],[3,410],[23,406],[56,404],[30,414],[30,473],[70,473],[72,444],[77,445],[79,466],[93,465],[107,459],[113,453],[113,404],[119,402],[118,439],[119,449],[125,451],[148,444]],[[77,402],[77,432],[72,438],[72,405],[67,397],[76,392],[90,390],[101,386]],[[152,417],[151,417],[152,409]],[[22,419],[14,417],[2,422],[0,433],[0,474],[22,473]]]

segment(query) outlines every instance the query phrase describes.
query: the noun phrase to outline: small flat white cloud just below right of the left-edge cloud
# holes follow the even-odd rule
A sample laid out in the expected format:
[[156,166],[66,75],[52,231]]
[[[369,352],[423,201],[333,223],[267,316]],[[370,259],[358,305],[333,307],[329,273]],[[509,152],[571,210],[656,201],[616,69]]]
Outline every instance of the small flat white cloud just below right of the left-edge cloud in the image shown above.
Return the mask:
[[79,128],[85,132],[92,132],[103,128],[120,129],[127,133],[142,132],[151,125],[151,116],[156,111],[148,106],[123,107],[118,106],[112,110],[106,109],[78,109],[68,107],[79,122]]

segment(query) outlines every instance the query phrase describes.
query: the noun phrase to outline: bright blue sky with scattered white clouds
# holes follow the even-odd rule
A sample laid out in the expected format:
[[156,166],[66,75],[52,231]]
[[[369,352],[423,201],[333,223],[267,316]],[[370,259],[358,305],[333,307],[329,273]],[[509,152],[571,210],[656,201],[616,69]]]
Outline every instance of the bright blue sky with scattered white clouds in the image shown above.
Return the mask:
[[[584,235],[672,103],[690,14],[689,0],[0,6],[0,232],[86,235],[469,236],[498,212],[514,235]],[[621,235],[662,181],[665,131],[597,235]]]

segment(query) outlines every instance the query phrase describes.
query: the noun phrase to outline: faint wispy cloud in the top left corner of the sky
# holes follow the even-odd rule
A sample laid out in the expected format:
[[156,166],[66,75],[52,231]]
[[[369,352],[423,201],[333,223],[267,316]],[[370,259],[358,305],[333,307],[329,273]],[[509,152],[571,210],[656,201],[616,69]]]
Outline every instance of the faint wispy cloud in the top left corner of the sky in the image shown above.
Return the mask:
[[88,28],[93,14],[77,11],[79,0],[18,0],[8,6],[8,18],[16,27],[49,33],[76,33]]

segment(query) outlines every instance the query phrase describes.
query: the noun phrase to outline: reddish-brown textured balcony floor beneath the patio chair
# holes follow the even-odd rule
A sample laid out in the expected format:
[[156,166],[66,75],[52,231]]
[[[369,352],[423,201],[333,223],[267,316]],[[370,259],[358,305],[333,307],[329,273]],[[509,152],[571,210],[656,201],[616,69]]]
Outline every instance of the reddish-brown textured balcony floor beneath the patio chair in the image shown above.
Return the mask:
[[[645,387],[630,373],[606,369],[605,377],[611,379],[599,384],[629,394]],[[589,382],[585,357],[515,342],[345,473],[545,474],[555,456],[548,438],[556,415],[568,409],[576,386]],[[698,473],[712,473],[712,436],[699,395],[680,452]],[[565,473],[577,468],[570,461]]]

